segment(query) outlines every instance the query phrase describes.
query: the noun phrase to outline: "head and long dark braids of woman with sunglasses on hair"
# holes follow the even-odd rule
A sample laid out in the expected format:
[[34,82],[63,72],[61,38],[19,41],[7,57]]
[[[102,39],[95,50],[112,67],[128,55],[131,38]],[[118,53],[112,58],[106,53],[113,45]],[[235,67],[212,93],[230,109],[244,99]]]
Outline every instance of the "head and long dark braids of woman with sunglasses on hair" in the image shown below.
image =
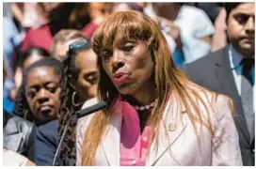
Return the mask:
[[[85,101],[97,96],[97,55],[90,46],[90,39],[84,38],[73,42],[70,45],[68,55],[63,64],[68,75],[66,97],[69,97],[69,99],[64,101],[62,106],[68,108],[69,114],[59,112],[59,134],[63,133],[67,121],[76,111],[82,108]],[[75,161],[76,159],[75,126],[76,122],[68,127],[66,137],[63,140],[60,151],[60,159],[62,160],[70,158]],[[71,145],[73,148],[71,148]]]

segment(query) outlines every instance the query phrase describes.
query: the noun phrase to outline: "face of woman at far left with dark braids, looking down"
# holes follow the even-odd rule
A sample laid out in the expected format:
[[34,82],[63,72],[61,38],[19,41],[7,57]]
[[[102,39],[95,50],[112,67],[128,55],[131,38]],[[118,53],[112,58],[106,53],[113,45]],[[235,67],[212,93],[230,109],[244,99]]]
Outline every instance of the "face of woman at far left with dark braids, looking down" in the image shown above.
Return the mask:
[[33,115],[40,121],[56,118],[60,91],[59,77],[54,68],[40,67],[27,73],[25,97]]

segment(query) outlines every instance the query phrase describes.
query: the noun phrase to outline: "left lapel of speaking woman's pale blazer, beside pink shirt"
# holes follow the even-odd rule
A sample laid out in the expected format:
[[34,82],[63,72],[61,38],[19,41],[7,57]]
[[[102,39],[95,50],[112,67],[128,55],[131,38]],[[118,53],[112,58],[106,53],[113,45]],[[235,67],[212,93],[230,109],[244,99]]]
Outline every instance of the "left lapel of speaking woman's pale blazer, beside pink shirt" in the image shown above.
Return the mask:
[[109,165],[120,166],[121,107],[116,109],[103,139],[104,155]]

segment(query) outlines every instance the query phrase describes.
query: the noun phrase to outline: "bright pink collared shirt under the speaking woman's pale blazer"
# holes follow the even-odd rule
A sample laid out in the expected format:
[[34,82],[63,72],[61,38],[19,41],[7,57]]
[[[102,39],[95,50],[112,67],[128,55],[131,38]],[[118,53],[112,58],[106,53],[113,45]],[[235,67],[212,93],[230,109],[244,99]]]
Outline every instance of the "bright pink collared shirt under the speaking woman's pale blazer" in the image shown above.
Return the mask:
[[122,101],[122,124],[120,131],[120,165],[145,165],[150,141],[150,127],[140,134],[136,109]]

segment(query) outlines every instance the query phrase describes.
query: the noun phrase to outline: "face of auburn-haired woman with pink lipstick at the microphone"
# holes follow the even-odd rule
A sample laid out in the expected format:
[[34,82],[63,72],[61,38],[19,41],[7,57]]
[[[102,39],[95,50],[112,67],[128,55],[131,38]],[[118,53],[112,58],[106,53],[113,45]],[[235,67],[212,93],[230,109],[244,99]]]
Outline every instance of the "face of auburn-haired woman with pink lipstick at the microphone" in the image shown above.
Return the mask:
[[[136,95],[152,89],[152,54],[144,41],[118,39],[112,49],[102,53],[105,72],[123,95]],[[151,92],[151,91],[146,91]]]

